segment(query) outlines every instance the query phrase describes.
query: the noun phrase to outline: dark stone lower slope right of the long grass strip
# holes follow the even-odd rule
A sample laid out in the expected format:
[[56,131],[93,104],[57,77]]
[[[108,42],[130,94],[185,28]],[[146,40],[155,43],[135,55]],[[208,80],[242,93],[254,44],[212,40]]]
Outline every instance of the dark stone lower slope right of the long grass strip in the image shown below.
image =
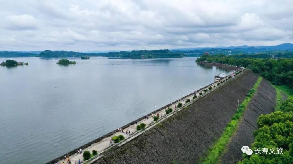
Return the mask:
[[242,146],[250,147],[254,142],[253,131],[257,129],[256,121],[260,114],[270,114],[275,110],[276,91],[275,88],[265,79],[258,87],[248,108],[244,112],[243,120],[239,124],[236,135],[228,144],[228,149],[221,157],[221,163],[237,163],[242,159]]

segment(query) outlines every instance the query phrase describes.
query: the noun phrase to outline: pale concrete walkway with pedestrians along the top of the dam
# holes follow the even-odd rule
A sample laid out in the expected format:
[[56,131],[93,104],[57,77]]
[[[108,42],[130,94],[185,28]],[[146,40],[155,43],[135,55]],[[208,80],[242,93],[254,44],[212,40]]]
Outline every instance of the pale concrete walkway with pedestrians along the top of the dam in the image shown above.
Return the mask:
[[[226,80],[227,80],[227,79],[228,79],[228,78],[226,78]],[[220,83],[220,82],[218,82],[218,83]],[[226,82],[224,82],[224,83],[226,83]],[[217,83],[214,84],[214,85],[216,86],[216,88],[219,87],[219,86],[217,86]],[[221,85],[220,85],[220,86],[221,86]],[[206,86],[206,87],[208,87],[208,86]],[[214,90],[214,89],[216,89],[216,88],[213,88],[212,90]],[[207,89],[207,90],[208,90],[208,88],[202,88],[202,90],[204,90],[204,89]],[[202,90],[201,90],[201,91],[202,91]],[[203,91],[202,91],[202,93],[203,93],[203,95],[206,95],[206,93],[204,93]],[[197,95],[197,98],[198,98],[198,97],[199,97],[199,93],[196,93],[196,95]],[[203,95],[202,95],[202,96],[203,96]],[[200,97],[202,97],[202,96],[200,96]],[[194,101],[194,100],[193,100],[193,95],[191,95],[191,96],[185,98],[185,100],[187,100],[187,99],[190,99],[190,102],[193,102],[193,101]],[[180,102],[183,104],[183,107],[184,107],[184,105],[186,104],[185,100],[183,99],[183,100],[180,101]],[[169,106],[169,107],[171,107],[171,108],[173,109],[173,111],[174,111],[174,110],[175,110],[175,105],[178,106],[178,103],[179,103],[179,102],[177,102],[176,104],[173,104],[173,105],[171,105],[171,106]],[[167,109],[167,108],[165,108],[165,109]],[[162,118],[162,116],[165,116],[165,115],[166,115],[165,109],[162,109],[161,111],[158,111],[157,114],[159,114],[160,119]],[[156,114],[155,114],[155,115],[156,115]],[[154,115],[154,116],[155,116],[155,115]],[[146,128],[147,128],[148,125],[151,124],[152,122],[154,122],[154,119],[153,119],[151,116],[149,116],[149,119],[142,119],[142,120],[140,120],[140,121],[138,122],[138,124],[140,124],[140,123],[145,123],[145,124],[147,125],[147,126],[146,126]],[[133,137],[133,136],[137,135],[137,133],[135,133],[135,132],[136,132],[136,126],[137,126],[138,124],[134,123],[133,125],[130,125],[130,126],[128,126],[127,128],[123,129],[123,130],[125,131],[125,133],[122,133],[121,131],[116,132],[116,133],[114,133],[112,136],[106,137],[106,138],[102,139],[101,141],[92,144],[91,146],[87,147],[86,149],[83,149],[82,152],[84,152],[84,151],[90,151],[90,152],[92,153],[92,150],[97,150],[98,153],[101,153],[101,152],[103,152],[106,148],[108,148],[109,146],[111,146],[111,144],[110,144],[110,142],[109,142],[109,139],[112,138],[113,136],[116,136],[116,135],[123,135],[123,136],[125,137],[125,139],[126,139],[126,138],[128,138],[128,137]],[[126,135],[126,130],[129,130],[129,131],[133,132],[133,134],[131,134],[131,135]],[[113,142],[113,143],[114,143],[114,142]],[[70,161],[71,161],[72,164],[74,164],[75,162],[77,163],[78,160],[80,160],[81,163],[84,163],[84,161],[83,161],[83,157],[82,157],[82,154],[73,154],[73,155],[69,156],[69,159],[70,159]],[[64,159],[59,160],[58,163],[59,163],[59,164],[62,164],[63,161],[64,161]],[[66,162],[64,162],[64,163],[66,163]]]

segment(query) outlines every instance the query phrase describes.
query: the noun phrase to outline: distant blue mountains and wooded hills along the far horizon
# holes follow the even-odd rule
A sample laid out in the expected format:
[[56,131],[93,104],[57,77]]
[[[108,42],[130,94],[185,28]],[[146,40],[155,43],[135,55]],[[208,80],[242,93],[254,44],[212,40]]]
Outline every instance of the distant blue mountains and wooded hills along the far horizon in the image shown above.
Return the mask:
[[[287,52],[289,51],[289,52]],[[91,53],[88,53],[91,52]],[[276,46],[230,46],[230,47],[198,47],[180,48],[169,50],[133,50],[120,52],[88,51],[86,53],[73,51],[0,51],[0,57],[81,57],[81,56],[104,56],[104,57],[130,57],[130,58],[163,58],[163,57],[200,57],[204,53],[209,54],[256,54],[269,55],[279,54],[282,57],[291,57],[293,44],[284,43]],[[93,53],[94,52],[94,53]],[[286,52],[286,53],[284,53]]]

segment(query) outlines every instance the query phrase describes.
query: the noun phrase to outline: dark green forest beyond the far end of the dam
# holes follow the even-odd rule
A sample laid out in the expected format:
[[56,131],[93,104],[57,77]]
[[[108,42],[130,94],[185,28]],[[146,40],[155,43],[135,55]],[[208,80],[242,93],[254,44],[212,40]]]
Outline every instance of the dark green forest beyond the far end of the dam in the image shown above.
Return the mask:
[[[280,58],[236,58],[233,55],[202,55],[196,60],[237,65],[251,69],[255,74],[263,76],[275,85],[288,85],[293,88],[293,59]],[[236,73],[235,75],[237,75]]]

